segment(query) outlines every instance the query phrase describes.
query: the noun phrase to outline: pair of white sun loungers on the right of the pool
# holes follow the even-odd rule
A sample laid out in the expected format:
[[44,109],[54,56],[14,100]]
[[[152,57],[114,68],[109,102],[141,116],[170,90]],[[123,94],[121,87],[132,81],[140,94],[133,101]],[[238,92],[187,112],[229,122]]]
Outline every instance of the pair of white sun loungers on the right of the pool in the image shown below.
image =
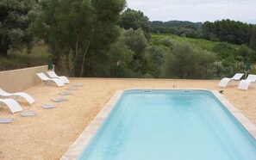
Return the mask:
[[[243,77],[243,73],[236,73],[234,77],[224,77],[222,78],[221,82],[218,84],[220,87],[227,87],[228,83],[234,82],[234,81],[240,81],[240,78]],[[247,90],[249,88],[250,83],[255,83],[256,82],[256,75],[250,74],[248,75],[247,79],[243,79],[240,81],[238,85],[238,89],[244,89]]]

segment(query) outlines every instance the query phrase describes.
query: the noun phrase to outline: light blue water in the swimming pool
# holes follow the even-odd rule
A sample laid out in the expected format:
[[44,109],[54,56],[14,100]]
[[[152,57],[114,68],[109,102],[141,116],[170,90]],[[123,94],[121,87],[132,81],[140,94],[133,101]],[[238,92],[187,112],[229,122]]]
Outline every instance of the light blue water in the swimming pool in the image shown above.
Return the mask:
[[79,159],[255,160],[256,141],[211,92],[130,90]]

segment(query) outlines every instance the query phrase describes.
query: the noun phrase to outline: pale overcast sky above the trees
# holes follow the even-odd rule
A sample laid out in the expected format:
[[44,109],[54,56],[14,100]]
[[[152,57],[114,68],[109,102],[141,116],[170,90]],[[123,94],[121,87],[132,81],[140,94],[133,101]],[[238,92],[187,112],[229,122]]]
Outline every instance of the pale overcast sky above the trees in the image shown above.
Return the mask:
[[150,21],[214,22],[230,19],[256,24],[256,0],[126,0]]

